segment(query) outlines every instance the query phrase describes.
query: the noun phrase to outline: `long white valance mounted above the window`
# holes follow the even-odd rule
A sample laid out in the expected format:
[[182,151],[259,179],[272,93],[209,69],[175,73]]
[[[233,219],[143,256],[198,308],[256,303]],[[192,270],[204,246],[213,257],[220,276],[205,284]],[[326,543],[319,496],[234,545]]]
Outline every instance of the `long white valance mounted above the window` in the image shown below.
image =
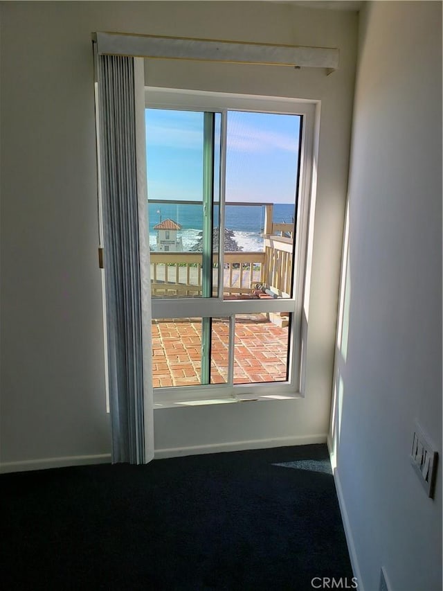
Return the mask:
[[98,53],[101,55],[338,69],[339,51],[329,47],[272,45],[126,33],[95,33],[94,37]]

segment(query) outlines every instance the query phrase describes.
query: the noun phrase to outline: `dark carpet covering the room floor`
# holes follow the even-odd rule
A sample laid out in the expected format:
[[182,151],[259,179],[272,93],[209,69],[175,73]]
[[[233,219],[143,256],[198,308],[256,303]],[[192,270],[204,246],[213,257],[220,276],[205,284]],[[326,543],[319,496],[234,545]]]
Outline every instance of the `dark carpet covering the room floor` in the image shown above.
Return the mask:
[[5,590],[304,591],[313,577],[352,579],[323,445],[16,473],[0,486]]

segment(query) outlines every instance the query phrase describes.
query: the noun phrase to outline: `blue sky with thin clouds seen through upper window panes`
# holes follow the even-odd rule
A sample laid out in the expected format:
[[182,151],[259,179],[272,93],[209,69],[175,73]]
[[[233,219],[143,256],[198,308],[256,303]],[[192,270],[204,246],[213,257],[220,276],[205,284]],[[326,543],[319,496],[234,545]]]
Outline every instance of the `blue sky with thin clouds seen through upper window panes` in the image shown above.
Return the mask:
[[[145,121],[149,198],[201,200],[203,113],[146,109]],[[299,129],[296,115],[228,112],[226,201],[293,203]]]

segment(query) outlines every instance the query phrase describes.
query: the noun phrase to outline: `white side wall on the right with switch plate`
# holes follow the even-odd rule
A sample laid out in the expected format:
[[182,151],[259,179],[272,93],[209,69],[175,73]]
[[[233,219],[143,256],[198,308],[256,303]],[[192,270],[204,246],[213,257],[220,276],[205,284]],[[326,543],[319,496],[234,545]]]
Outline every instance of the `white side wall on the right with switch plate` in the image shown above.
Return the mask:
[[[442,6],[361,13],[332,446],[356,574],[442,588]],[[410,466],[414,421],[440,466]]]

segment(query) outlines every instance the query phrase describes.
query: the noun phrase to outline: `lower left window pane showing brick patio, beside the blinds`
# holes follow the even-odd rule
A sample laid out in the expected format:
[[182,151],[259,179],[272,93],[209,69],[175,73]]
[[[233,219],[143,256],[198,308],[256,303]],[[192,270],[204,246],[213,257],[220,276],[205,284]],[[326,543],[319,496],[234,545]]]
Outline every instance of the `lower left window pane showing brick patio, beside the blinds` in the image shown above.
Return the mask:
[[154,388],[196,386],[201,382],[201,318],[152,321]]

